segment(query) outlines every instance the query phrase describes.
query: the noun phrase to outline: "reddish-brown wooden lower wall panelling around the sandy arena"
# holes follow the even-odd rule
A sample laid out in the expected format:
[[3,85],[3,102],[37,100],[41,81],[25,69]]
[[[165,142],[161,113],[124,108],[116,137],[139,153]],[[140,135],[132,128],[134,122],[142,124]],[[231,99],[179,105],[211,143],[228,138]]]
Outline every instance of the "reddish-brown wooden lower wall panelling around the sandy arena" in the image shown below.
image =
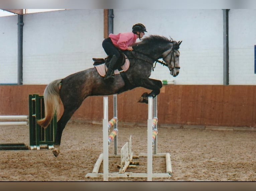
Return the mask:
[[[0,115],[28,115],[28,95],[43,95],[46,85],[1,85]],[[148,105],[137,103],[149,90],[136,88],[118,95],[118,119],[147,122]],[[256,127],[256,86],[167,85],[158,95],[161,124]],[[109,96],[109,118],[113,116]],[[62,107],[63,111],[63,107]],[[103,96],[87,97],[72,119],[102,121]]]

